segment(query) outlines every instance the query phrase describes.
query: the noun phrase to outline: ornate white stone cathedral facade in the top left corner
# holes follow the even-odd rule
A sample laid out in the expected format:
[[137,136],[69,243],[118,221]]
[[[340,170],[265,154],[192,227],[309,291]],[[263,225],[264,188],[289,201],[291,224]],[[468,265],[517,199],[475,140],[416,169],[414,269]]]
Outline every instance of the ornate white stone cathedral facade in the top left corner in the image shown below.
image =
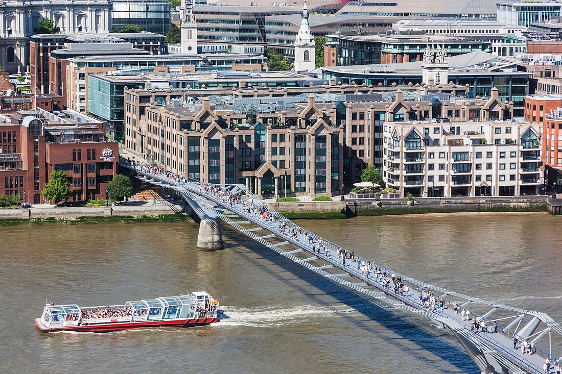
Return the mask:
[[0,3],[0,66],[9,72],[29,65],[29,37],[51,19],[61,33],[111,32],[111,0],[50,0]]

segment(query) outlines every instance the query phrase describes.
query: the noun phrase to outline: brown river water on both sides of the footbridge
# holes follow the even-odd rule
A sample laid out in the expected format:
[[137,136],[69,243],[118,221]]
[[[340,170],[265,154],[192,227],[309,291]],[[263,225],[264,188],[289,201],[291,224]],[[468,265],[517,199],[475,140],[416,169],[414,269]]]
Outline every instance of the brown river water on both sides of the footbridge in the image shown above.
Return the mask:
[[[430,284],[562,322],[562,217],[359,217],[303,227]],[[479,373],[460,344],[223,229],[0,227],[1,373]],[[206,290],[221,322],[193,329],[43,334],[44,302],[111,305]],[[425,321],[423,321],[425,323]]]

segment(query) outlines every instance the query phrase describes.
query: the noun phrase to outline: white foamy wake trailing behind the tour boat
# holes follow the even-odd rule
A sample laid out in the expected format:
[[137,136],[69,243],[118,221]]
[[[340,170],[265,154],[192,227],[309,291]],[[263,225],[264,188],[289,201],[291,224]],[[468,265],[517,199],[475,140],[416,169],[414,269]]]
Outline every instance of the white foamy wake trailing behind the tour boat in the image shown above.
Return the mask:
[[[314,318],[325,318],[334,316],[334,311],[316,305],[301,305],[291,308],[262,307],[262,308],[238,308],[220,307],[220,322],[214,327],[281,327],[293,325],[294,323],[314,320]],[[337,311],[339,313],[353,313],[355,309]]]

